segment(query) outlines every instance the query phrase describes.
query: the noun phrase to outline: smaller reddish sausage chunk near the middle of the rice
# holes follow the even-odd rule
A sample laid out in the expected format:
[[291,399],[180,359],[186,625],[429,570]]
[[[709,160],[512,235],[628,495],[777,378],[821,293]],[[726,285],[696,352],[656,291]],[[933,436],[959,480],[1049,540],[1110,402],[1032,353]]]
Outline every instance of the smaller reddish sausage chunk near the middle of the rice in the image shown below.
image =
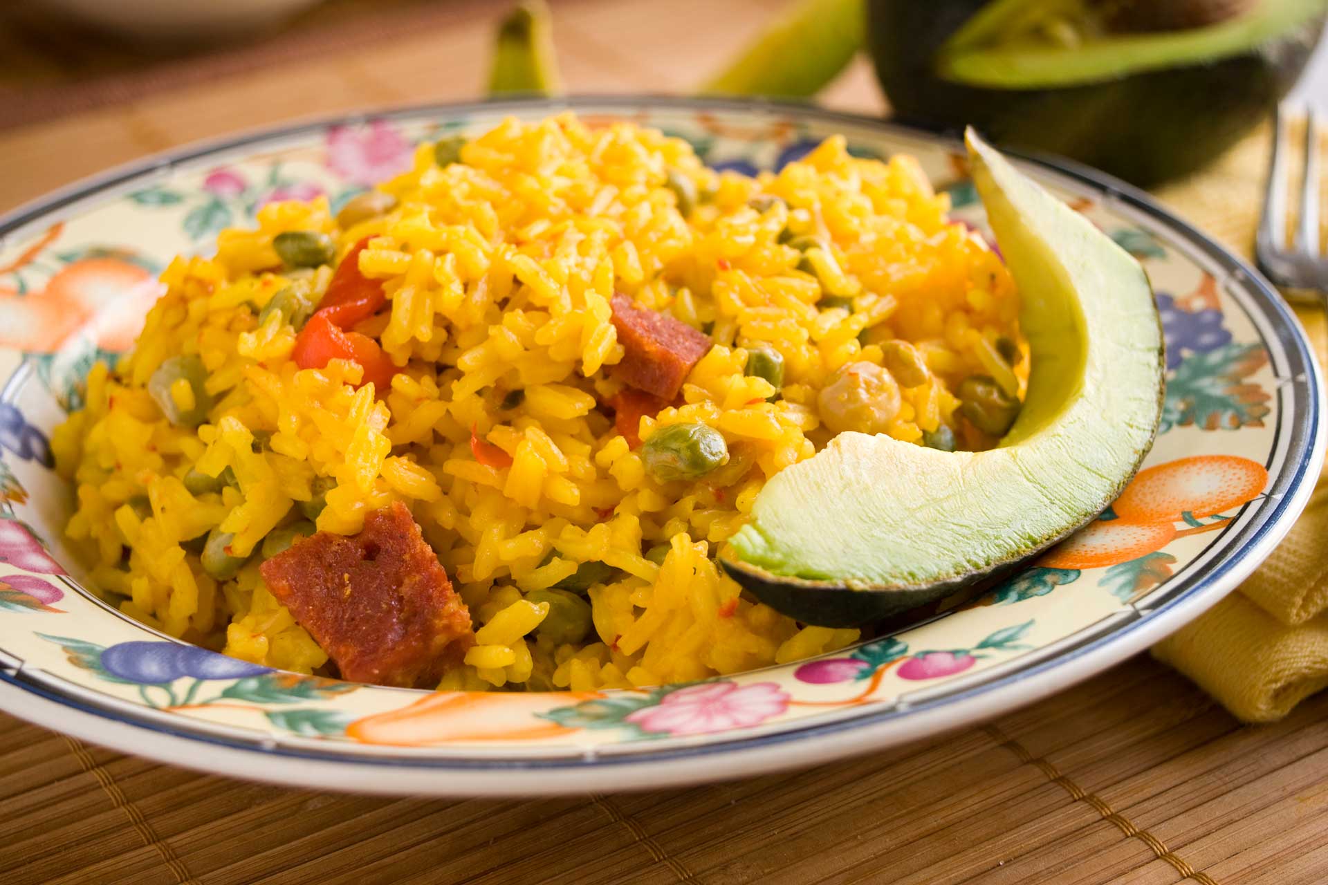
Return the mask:
[[709,353],[709,336],[657,310],[639,308],[625,295],[615,295],[610,304],[624,350],[614,374],[637,390],[672,402],[687,373]]

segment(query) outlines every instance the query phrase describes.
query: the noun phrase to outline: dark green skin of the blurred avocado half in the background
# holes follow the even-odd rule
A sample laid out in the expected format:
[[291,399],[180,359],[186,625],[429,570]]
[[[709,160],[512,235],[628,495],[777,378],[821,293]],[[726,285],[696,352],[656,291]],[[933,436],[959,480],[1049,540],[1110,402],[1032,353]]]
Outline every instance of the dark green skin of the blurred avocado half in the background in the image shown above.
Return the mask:
[[867,48],[895,118],[976,126],[997,143],[1077,159],[1147,187],[1186,175],[1256,126],[1295,85],[1320,16],[1251,50],[1065,89],[983,89],[939,78],[932,60],[987,0],[869,0]]

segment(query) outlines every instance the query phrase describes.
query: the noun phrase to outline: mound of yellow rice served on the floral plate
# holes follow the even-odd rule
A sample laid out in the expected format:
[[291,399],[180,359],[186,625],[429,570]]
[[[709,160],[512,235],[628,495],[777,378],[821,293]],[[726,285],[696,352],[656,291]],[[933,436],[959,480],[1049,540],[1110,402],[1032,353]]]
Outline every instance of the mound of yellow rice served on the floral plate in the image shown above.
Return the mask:
[[[912,342],[928,369],[902,390],[887,433],[918,442],[947,425],[981,444],[954,415],[952,390],[1005,368],[995,342],[1017,340],[1017,297],[999,257],[947,219],[948,198],[915,161],[858,159],[842,138],[746,178],[706,169],[659,131],[563,115],[509,119],[461,157],[440,169],[422,145],[414,167],[381,186],[398,200],[386,216],[340,230],[323,199],[270,204],[256,230],[222,232],[214,259],[170,264],[133,353],[92,370],[86,407],[53,438],[77,484],[68,535],[86,548],[98,590],[171,636],[325,673],[324,651],[263,586],[259,556],[218,582],[181,541],[219,527],[247,555],[297,519],[292,504],[328,476],[337,486],[319,529],[353,533],[367,512],[405,502],[470,608],[477,645],[444,689],[648,686],[854,642],[857,630],[799,628],[756,602],[716,552],[762,483],[831,435],[817,406],[830,374],[882,365],[887,341]],[[689,219],[665,186],[669,170],[704,195]],[[784,203],[753,208],[757,194]],[[373,236],[360,269],[385,281],[390,313],[360,330],[405,366],[385,398],[352,386],[355,364],[297,370],[295,329],[280,316],[258,324],[258,308],[288,283],[264,271],[280,264],[272,238],[296,230],[332,235],[341,253]],[[803,272],[781,232],[833,247],[811,249],[814,273]],[[329,277],[327,267],[312,275],[317,293]],[[622,387],[608,372],[623,356],[615,292],[710,329],[714,348],[691,372],[685,405],[640,426],[641,438],[684,421],[718,430],[734,460],[704,484],[655,482],[596,410]],[[853,312],[818,309],[826,295],[850,297]],[[785,358],[774,402],[766,381],[744,375],[745,348],[758,344]],[[199,354],[210,373],[214,407],[197,430],[171,426],[145,387],[181,353]],[[515,389],[523,402],[502,410]],[[171,395],[191,405],[187,385]],[[471,426],[511,467],[471,456]],[[272,434],[262,452],[255,431]],[[190,468],[224,467],[238,487],[195,498],[181,482]],[[126,504],[142,495],[146,519]],[[643,555],[657,544],[669,545],[663,565]],[[618,569],[590,589],[594,632],[570,645],[540,637],[547,606],[525,593],[592,561]]]

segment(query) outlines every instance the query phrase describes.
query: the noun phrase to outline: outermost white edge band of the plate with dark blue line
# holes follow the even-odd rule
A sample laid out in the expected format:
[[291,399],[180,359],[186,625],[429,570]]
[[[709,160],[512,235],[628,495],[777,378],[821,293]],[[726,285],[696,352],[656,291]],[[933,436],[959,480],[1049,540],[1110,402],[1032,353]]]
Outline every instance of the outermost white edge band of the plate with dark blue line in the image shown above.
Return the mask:
[[[382,110],[364,110],[311,118],[293,123],[244,131],[236,135],[186,145],[118,166],[62,187],[45,198],[29,202],[0,216],[0,243],[33,222],[58,216],[66,206],[96,195],[109,195],[117,187],[141,182],[145,176],[161,176],[177,165],[183,165],[228,150],[242,149],[254,142],[297,138],[336,125],[361,125],[374,119],[438,118],[446,119],[467,113],[493,113],[510,107],[517,110],[598,110],[629,113],[643,107],[671,107],[677,110],[712,110],[748,115],[815,119],[823,123],[841,122],[865,127],[903,139],[922,139],[940,146],[955,146],[955,139],[944,133],[930,131],[875,119],[866,115],[823,110],[807,105],[776,101],[746,101],[725,98],[681,98],[665,96],[578,96],[559,100],[513,98],[483,102],[406,105]],[[331,784],[320,776],[328,774],[327,763],[335,763],[341,782],[335,788],[363,792],[440,795],[531,795],[540,792],[568,792],[590,788],[628,789],[647,785],[693,783],[717,778],[740,776],[778,768],[809,764],[799,750],[817,740],[815,762],[826,762],[870,748],[935,734],[964,723],[980,720],[1001,711],[1028,703],[1058,689],[1084,679],[1129,654],[1145,649],[1187,620],[1220,600],[1243,580],[1271,552],[1289,529],[1313,488],[1307,478],[1313,475],[1324,456],[1325,426],[1324,387],[1320,369],[1307,346],[1304,332],[1295,314],[1276,291],[1248,264],[1185,220],[1162,208],[1151,196],[1096,170],[1062,161],[1020,151],[1011,151],[1019,159],[1038,166],[1041,171],[1068,179],[1078,187],[1088,187],[1116,207],[1125,207],[1149,216],[1166,227],[1191,251],[1198,251],[1220,265],[1228,279],[1238,281],[1263,310],[1264,324],[1284,352],[1295,354],[1293,362],[1308,386],[1309,409],[1296,415],[1291,427],[1291,441],[1286,468],[1275,478],[1268,495],[1278,498],[1268,515],[1258,523],[1244,525],[1223,547],[1222,560],[1208,563],[1195,573],[1178,581],[1167,597],[1155,608],[1126,624],[1112,620],[1084,637],[1072,647],[1046,654],[1040,659],[1015,667],[1001,667],[1000,675],[954,691],[942,698],[920,699],[916,705],[900,702],[884,710],[861,715],[809,723],[777,734],[746,738],[725,738],[717,742],[676,748],[661,748],[637,754],[598,752],[588,748],[575,755],[531,758],[513,755],[505,758],[456,756],[438,758],[426,752],[394,755],[352,755],[321,752],[312,748],[280,746],[271,739],[231,739],[215,732],[207,734],[187,723],[165,724],[151,720],[145,711],[126,713],[112,705],[84,701],[73,694],[60,694],[45,686],[24,681],[17,667],[7,666],[0,654],[0,709],[57,728],[94,743],[117,750],[150,755],[203,771],[223,771],[248,778],[260,778],[291,784],[327,788]],[[1053,646],[1060,642],[1052,644]],[[1050,647],[1050,646],[1049,646]],[[143,730],[153,734],[151,746],[143,744]],[[201,751],[199,743],[207,746]],[[587,768],[608,767],[610,783],[594,787],[586,780]],[[420,775],[446,774],[446,783],[422,783]],[[495,778],[497,771],[518,771],[527,780]],[[529,780],[531,776],[537,780]]]

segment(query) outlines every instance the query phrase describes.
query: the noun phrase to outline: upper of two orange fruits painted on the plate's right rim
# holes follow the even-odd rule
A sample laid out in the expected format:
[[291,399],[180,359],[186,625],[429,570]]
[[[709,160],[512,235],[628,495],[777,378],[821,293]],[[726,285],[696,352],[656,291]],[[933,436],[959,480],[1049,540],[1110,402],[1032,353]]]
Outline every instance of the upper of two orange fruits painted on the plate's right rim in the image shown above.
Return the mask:
[[1182,458],[1139,471],[1112,510],[1133,521],[1202,519],[1258,496],[1267,482],[1264,466],[1248,458]]

